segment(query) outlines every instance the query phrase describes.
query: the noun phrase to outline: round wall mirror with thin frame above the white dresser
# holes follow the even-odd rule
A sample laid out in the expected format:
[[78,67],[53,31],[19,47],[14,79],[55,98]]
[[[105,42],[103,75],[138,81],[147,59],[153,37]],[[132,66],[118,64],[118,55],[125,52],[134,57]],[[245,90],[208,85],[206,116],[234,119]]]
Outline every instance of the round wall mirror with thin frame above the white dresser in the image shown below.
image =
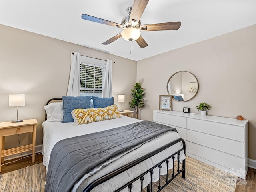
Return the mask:
[[174,73],[167,82],[167,92],[176,101],[188,101],[196,96],[199,84],[196,76],[187,71]]

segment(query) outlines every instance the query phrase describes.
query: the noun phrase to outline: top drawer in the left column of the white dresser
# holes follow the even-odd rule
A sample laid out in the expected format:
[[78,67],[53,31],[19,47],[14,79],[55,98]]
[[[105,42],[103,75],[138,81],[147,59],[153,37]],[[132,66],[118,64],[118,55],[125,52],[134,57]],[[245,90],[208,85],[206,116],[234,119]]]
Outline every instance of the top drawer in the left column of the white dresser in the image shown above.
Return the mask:
[[161,122],[170,126],[186,128],[186,118],[154,112],[154,122]]

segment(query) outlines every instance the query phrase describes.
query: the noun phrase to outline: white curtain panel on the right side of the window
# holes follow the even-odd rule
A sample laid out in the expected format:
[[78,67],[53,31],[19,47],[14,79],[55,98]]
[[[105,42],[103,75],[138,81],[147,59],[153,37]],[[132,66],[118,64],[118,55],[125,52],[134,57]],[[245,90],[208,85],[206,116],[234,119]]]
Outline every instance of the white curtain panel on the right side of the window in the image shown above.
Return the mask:
[[112,97],[112,60],[106,61],[104,87],[102,97]]

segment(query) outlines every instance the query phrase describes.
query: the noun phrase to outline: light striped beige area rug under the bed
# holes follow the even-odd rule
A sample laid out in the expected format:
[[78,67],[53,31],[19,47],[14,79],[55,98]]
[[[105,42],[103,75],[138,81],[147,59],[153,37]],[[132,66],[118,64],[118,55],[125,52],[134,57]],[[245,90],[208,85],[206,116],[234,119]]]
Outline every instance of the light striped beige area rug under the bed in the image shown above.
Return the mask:
[[[177,169],[176,166],[174,169]],[[162,181],[164,182],[165,176],[162,177]],[[42,163],[28,166],[0,175],[0,192],[44,192],[45,180],[46,170]],[[162,191],[234,192],[236,189],[236,180],[236,176],[187,156],[186,178],[183,179],[181,173]],[[153,185],[154,189],[156,188],[157,190],[158,182]]]

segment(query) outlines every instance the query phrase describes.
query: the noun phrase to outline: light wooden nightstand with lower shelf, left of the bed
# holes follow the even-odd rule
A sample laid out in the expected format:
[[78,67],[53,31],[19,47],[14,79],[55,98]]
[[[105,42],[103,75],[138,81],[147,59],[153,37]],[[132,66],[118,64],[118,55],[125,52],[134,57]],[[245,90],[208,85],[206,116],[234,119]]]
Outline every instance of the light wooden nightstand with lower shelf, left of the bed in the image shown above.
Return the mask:
[[[4,157],[23,153],[32,150],[32,163],[35,162],[36,154],[36,119],[23,120],[22,122],[12,123],[12,122],[1,122],[0,123],[0,164],[4,162]],[[29,133],[32,132],[32,144],[25,145],[21,147],[16,147],[12,149],[4,150],[4,139],[5,136]],[[1,172],[1,166],[0,166]]]

